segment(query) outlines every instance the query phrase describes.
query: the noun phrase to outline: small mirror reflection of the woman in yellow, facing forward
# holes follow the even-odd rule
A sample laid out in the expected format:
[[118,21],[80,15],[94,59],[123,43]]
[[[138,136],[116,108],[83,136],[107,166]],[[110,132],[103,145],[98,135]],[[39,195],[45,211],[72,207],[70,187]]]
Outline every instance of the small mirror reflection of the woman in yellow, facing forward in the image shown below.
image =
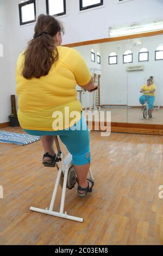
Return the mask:
[[140,93],[143,93],[143,95],[140,96],[139,101],[143,105],[145,101],[148,100],[150,118],[152,118],[153,103],[155,101],[155,90],[156,90],[156,86],[153,84],[153,81],[151,78],[147,80],[147,84],[144,84],[140,90]]

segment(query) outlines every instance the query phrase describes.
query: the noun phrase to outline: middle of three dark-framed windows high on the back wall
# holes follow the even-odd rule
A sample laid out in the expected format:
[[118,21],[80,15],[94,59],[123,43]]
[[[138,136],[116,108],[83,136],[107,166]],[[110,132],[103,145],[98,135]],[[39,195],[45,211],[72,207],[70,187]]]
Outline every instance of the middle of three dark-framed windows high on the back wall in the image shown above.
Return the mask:
[[46,13],[53,16],[66,14],[66,0],[46,0]]

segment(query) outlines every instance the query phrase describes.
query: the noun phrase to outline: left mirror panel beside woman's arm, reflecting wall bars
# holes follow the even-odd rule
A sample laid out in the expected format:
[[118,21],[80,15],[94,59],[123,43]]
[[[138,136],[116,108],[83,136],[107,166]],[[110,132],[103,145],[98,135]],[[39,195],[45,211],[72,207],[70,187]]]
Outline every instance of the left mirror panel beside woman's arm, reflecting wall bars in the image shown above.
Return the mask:
[[[127,123],[127,72],[117,75],[115,66],[118,66],[118,49],[110,42],[75,48],[84,57],[95,82],[99,85],[99,89],[94,93],[84,92],[83,109],[111,111],[112,122]],[[95,62],[92,61],[92,49],[95,52]],[[101,56],[100,64],[97,62],[98,54]],[[80,87],[77,89],[81,90]],[[78,95],[78,99],[79,96],[81,95]]]

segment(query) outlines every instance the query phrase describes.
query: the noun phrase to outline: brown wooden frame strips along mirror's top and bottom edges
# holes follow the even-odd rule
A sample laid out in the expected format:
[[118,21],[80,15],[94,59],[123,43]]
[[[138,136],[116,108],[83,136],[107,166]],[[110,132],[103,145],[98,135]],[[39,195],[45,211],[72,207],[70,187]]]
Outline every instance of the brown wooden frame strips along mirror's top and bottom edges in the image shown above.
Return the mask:
[[[144,38],[144,37],[154,36],[154,35],[163,35],[163,30],[139,33],[139,34],[133,34],[133,35],[116,36],[112,38],[103,38],[103,39],[96,39],[96,40],[89,40],[89,41],[82,41],[82,42],[74,42],[72,44],[65,44],[63,46],[77,47],[77,46],[84,46],[84,45],[91,45],[91,44],[100,44],[102,42],[113,42],[113,41],[121,41],[121,40],[133,39],[133,38]],[[95,123],[95,121],[93,121],[92,123],[93,123],[92,125],[93,130],[97,130],[96,127],[97,125],[99,127],[99,124]],[[104,125],[106,126],[107,123],[105,122]],[[111,132],[163,135],[163,125],[111,122]]]

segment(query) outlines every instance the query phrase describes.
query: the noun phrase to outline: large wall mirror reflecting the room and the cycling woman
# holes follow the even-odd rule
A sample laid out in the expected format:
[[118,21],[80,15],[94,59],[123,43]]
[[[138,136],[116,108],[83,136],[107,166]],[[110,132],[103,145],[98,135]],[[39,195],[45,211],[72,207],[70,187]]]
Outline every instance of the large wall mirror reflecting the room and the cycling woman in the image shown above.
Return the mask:
[[[146,133],[147,127],[158,128],[159,132],[154,134],[162,134],[162,34],[74,48],[82,54],[100,84],[98,92],[83,97],[85,109],[96,106],[97,111],[111,111],[111,122],[121,127],[130,124],[142,133]],[[140,93],[141,88],[149,90]]]

